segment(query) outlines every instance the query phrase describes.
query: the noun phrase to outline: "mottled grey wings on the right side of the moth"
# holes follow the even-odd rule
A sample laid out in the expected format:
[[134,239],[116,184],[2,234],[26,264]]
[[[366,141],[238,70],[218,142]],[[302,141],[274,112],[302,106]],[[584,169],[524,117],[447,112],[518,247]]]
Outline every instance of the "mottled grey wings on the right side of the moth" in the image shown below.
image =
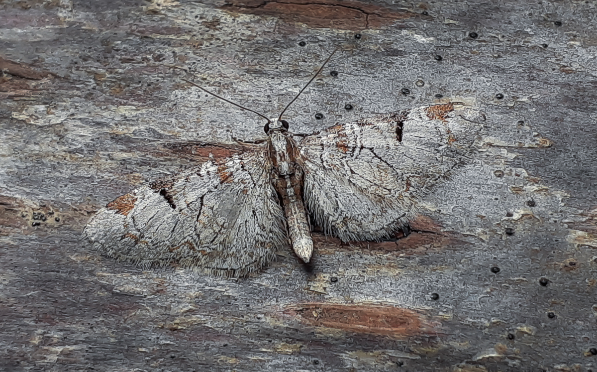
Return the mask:
[[299,143],[304,199],[342,240],[375,240],[406,224],[416,200],[462,163],[476,112],[433,105],[337,124]]

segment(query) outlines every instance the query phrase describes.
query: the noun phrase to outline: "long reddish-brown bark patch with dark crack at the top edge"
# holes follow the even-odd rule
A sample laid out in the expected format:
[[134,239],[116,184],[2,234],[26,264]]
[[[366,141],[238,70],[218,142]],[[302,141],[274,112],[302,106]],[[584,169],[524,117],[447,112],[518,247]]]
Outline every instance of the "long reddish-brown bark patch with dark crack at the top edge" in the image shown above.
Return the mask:
[[413,13],[396,11],[359,1],[337,0],[229,0],[223,10],[234,13],[272,16],[287,22],[300,22],[312,28],[349,31],[378,29]]

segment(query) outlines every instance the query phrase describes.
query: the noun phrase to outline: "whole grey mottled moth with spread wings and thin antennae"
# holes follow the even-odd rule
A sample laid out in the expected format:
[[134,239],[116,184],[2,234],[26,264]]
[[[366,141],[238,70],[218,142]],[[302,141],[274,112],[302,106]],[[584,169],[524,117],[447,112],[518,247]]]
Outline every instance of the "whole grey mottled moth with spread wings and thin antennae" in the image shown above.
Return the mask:
[[196,145],[204,161],[100,209],[84,230],[93,246],[143,267],[177,263],[236,278],[287,246],[308,263],[310,223],[344,242],[380,240],[407,227],[432,186],[465,163],[481,126],[477,111],[457,103],[309,135],[290,132],[284,111],[276,119],[248,111],[267,120],[266,138]]

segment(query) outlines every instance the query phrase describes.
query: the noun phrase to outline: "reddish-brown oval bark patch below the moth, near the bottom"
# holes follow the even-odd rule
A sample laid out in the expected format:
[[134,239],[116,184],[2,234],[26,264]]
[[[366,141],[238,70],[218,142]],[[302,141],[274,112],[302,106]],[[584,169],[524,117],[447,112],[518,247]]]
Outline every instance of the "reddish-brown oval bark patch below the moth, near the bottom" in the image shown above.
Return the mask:
[[356,333],[395,337],[430,333],[423,316],[395,306],[304,303],[289,306],[284,313],[296,316],[305,324]]

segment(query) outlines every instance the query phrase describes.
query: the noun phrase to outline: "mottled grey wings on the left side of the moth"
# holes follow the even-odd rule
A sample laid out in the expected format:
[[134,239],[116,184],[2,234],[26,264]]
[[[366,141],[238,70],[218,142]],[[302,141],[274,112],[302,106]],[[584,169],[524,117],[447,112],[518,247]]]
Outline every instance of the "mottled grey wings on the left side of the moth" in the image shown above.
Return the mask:
[[220,276],[254,272],[287,244],[266,145],[196,147],[207,161],[119,197],[90,219],[85,234],[104,254],[145,267],[176,262]]

